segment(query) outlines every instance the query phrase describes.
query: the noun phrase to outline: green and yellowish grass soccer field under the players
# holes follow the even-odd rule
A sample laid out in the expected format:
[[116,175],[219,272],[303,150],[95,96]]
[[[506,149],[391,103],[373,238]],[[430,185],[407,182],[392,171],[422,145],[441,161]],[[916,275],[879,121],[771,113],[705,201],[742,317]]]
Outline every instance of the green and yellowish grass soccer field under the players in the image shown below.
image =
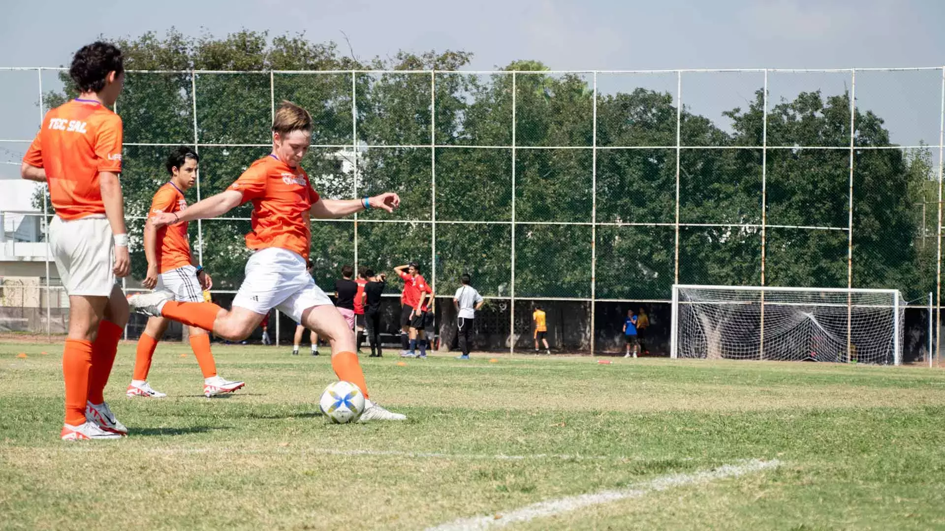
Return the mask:
[[[128,400],[123,344],[106,399],[130,437],[65,443],[61,345],[0,343],[0,528],[459,528],[629,488],[507,528],[945,527],[938,369],[364,357],[371,397],[409,420],[331,425],[330,361],[304,352],[215,346],[247,386],[208,400],[193,354],[163,343],[149,382],[170,396]],[[645,487],[748,459],[779,464]]]

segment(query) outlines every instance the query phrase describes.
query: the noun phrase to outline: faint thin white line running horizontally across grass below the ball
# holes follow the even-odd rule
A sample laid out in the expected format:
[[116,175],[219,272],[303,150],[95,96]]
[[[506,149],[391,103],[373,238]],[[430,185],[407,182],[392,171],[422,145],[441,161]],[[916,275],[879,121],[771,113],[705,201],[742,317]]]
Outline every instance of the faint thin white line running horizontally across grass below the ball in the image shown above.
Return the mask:
[[[132,432],[133,436],[134,433]],[[106,448],[106,445],[75,445],[71,447],[66,447],[67,452],[96,452],[102,448]],[[601,461],[601,460],[612,460],[612,461],[651,461],[657,460],[661,457],[634,457],[627,455],[581,455],[581,454],[524,454],[524,455],[507,455],[507,454],[444,454],[438,452],[402,452],[399,450],[332,450],[328,448],[298,448],[293,449],[291,446],[288,447],[278,447],[278,448],[259,448],[259,449],[246,449],[246,448],[227,448],[227,447],[213,447],[213,448],[144,448],[144,449],[135,449],[135,452],[141,452],[146,454],[163,454],[163,455],[188,455],[188,454],[238,454],[238,455],[251,455],[251,454],[321,454],[321,455],[347,455],[347,456],[358,456],[358,455],[367,455],[374,457],[407,457],[414,459],[470,459],[470,460],[494,460],[494,461],[524,461],[528,459],[552,459],[559,461]],[[692,457],[683,457],[683,461],[691,461]]]

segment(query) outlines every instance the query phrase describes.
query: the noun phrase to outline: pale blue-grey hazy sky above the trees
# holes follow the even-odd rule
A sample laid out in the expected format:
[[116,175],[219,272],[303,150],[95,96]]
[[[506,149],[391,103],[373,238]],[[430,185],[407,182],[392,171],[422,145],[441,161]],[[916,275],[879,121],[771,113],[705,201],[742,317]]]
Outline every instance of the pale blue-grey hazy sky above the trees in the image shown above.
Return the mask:
[[[136,37],[170,26],[185,34],[224,36],[241,28],[278,35],[305,32],[312,41],[345,35],[359,59],[398,50],[464,50],[468,69],[490,70],[512,60],[541,60],[558,70],[677,68],[869,68],[945,63],[945,2],[936,0],[99,0],[7,2],[0,8],[0,67],[60,66],[100,34]],[[57,14],[58,13],[58,14]],[[45,16],[43,16],[45,15]],[[39,111],[36,72],[2,72],[0,140],[29,138]],[[55,76],[43,79],[50,86]],[[637,82],[639,79],[639,82]],[[633,82],[675,90],[675,75]],[[626,77],[601,78],[601,90]],[[608,83],[611,85],[608,85]],[[713,119],[745,105],[762,77],[684,77],[683,100]],[[772,75],[771,97],[823,88],[835,94],[849,74]],[[863,73],[858,105],[883,111],[893,140],[938,144],[941,72]],[[6,149],[6,151],[5,151]],[[25,146],[0,142],[0,179]],[[0,195],[0,208],[3,208]]]

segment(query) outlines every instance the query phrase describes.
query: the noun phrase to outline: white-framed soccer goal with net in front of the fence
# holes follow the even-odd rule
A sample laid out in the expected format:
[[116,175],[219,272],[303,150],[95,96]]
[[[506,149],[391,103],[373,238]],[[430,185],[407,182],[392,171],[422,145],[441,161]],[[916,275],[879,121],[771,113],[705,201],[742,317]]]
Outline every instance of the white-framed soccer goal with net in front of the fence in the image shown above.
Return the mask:
[[902,363],[895,289],[673,285],[673,358]]

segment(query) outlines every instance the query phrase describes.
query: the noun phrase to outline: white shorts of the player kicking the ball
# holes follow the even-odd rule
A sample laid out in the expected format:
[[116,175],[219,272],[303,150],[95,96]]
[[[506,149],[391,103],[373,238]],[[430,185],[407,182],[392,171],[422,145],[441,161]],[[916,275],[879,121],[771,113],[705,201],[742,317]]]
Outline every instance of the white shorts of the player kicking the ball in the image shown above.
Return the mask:
[[284,248],[263,248],[246,263],[246,278],[232,305],[257,314],[275,308],[301,321],[301,313],[313,306],[332,304],[305,267],[305,259]]

